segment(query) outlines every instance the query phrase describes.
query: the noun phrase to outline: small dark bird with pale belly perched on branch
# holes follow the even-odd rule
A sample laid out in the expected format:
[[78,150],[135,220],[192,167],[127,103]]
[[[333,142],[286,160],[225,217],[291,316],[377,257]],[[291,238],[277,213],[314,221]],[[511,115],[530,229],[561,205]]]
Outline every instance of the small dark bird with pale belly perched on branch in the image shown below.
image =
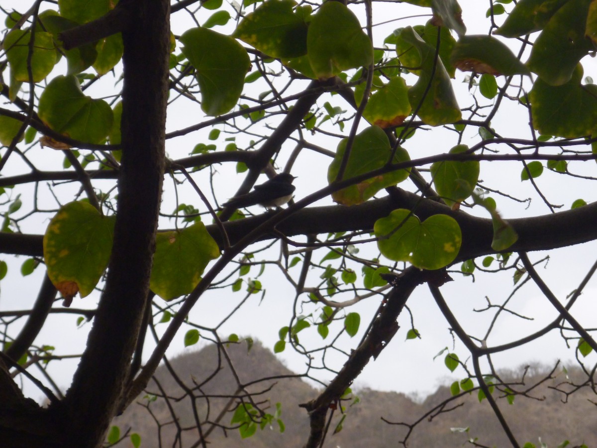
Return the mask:
[[256,185],[253,191],[245,195],[235,196],[222,204],[224,207],[250,207],[259,204],[261,207],[273,208],[286,204],[293,197],[293,180],[296,179],[292,174],[280,173],[272,177],[261,185]]

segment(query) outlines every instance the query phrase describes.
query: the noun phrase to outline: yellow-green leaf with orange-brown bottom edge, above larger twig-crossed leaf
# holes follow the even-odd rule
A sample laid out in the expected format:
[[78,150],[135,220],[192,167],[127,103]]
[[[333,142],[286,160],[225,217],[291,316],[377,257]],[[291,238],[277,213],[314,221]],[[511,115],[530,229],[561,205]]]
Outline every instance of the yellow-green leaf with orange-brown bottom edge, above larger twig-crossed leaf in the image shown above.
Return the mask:
[[371,124],[387,128],[402,124],[410,113],[407,84],[400,76],[394,76],[387,84],[377,87],[365,106],[363,116]]

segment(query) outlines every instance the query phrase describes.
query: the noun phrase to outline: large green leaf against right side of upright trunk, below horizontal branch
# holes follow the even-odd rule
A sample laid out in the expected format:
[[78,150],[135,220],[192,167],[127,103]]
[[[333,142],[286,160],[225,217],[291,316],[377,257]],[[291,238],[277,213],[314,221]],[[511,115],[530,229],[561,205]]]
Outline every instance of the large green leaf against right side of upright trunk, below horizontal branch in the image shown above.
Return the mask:
[[202,222],[156,235],[150,289],[164,300],[189,294],[205,266],[220,256],[220,248]]

